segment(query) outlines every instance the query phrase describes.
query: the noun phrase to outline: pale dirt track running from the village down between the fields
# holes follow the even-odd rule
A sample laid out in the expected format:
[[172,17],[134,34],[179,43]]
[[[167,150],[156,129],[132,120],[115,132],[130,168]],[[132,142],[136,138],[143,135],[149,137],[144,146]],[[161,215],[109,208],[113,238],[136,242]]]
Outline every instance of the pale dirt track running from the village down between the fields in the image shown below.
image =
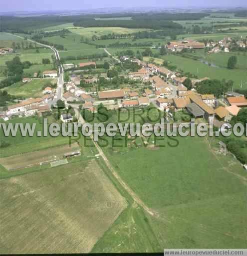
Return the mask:
[[[83,124],[85,123],[85,120],[83,119],[80,111],[74,107],[75,110],[75,114],[76,117],[78,118],[78,121]],[[115,171],[114,167],[112,166],[112,164],[110,163],[110,161],[108,160],[108,158],[106,157],[106,155],[104,154],[103,150],[101,149],[101,147],[98,145],[98,143],[96,141],[94,141],[93,139],[93,135],[90,136],[90,138],[92,139],[95,147],[97,148],[99,155],[102,157],[102,159],[104,160],[106,166],[109,168],[109,170],[111,171],[111,173],[114,175],[114,177],[118,180],[118,182],[123,186],[123,188],[129,193],[129,195],[133,198],[133,200],[139,204],[141,207],[143,207],[143,209],[148,212],[150,215],[155,215],[157,214],[157,212],[153,211],[152,209],[150,209],[141,199],[140,197],[123,181],[123,179],[118,175],[118,173]]]

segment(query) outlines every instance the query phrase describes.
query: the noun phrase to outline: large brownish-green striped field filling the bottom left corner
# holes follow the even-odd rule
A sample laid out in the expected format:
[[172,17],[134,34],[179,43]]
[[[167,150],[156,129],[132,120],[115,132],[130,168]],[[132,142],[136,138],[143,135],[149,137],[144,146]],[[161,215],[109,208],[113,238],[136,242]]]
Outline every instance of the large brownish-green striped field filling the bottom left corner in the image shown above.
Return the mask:
[[1,179],[0,193],[0,253],[89,252],[127,206],[96,160]]

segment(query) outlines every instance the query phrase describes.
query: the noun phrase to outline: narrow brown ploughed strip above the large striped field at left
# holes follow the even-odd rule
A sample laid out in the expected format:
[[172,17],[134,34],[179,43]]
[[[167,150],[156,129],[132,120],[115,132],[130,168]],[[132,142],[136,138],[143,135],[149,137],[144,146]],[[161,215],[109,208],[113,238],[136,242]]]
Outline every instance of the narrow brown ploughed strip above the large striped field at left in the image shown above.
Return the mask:
[[63,154],[79,151],[80,147],[75,142],[71,145],[65,144],[58,147],[50,147],[40,151],[33,151],[28,153],[22,153],[19,155],[13,155],[0,158],[0,164],[7,170],[21,169],[37,165],[43,162],[50,162],[62,159]]

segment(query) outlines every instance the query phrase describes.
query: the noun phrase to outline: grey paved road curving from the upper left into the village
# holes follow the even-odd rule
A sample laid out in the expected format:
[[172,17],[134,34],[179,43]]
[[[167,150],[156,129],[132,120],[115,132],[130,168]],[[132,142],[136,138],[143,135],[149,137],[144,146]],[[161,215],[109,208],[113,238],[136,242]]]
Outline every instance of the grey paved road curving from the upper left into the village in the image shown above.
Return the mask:
[[[20,35],[16,35],[16,34],[11,34],[11,35],[14,35],[16,37],[24,39],[24,37],[20,36]],[[62,64],[60,64],[60,62],[59,62],[60,61],[59,52],[53,46],[50,46],[50,45],[47,45],[47,44],[43,44],[43,43],[31,40],[31,39],[27,39],[27,40],[30,41],[30,42],[36,43],[38,45],[41,45],[43,47],[50,48],[54,52],[54,55],[56,57],[56,61],[57,61],[57,64],[58,64],[57,88],[56,88],[56,94],[55,94],[54,99],[52,101],[52,104],[55,105],[57,100],[62,97],[62,94],[63,94],[63,83],[64,83],[64,81],[63,81],[63,67],[62,67]]]

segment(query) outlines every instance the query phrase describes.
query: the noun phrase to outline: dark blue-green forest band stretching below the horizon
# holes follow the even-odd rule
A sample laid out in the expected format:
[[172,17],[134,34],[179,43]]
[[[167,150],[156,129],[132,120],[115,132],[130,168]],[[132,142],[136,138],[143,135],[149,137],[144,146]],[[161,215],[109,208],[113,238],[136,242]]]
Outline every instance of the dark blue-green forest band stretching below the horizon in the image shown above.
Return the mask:
[[[131,16],[130,20],[96,20],[95,18]],[[35,17],[0,16],[0,31],[32,33],[48,26],[73,22],[76,26],[122,26],[129,28],[180,28],[171,20],[197,20],[208,13],[122,13],[122,14],[87,14],[87,15],[43,15]],[[148,21],[148,22],[147,22]]]

